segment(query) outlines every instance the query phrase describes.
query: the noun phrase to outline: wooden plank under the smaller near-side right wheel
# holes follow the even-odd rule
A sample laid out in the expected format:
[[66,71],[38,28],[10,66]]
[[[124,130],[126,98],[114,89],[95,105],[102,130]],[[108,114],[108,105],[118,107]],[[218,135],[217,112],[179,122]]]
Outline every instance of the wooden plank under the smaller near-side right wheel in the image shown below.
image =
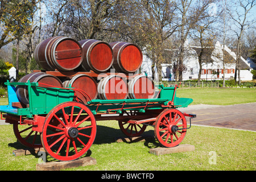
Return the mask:
[[195,146],[192,146],[191,144],[180,144],[176,147],[171,148],[150,148],[150,154],[154,155],[164,155],[164,154],[172,154],[172,153],[178,153],[178,152],[190,152],[195,151]]

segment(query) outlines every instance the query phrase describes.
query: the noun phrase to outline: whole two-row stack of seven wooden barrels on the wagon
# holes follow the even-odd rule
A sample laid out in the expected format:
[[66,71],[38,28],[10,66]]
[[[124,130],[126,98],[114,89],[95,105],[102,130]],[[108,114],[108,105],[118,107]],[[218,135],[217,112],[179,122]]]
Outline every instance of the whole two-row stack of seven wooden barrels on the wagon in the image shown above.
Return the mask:
[[[135,73],[142,64],[142,51],[127,42],[105,43],[100,40],[76,41],[64,36],[43,40],[35,48],[35,60],[44,71],[30,73],[19,82],[42,82],[44,87],[75,88],[76,100],[122,100],[126,98],[153,98],[155,85],[150,77]],[[114,69],[115,73],[110,73]],[[64,76],[56,76],[55,72]],[[97,76],[108,73],[101,80]],[[124,74],[123,74],[124,73]],[[98,83],[97,83],[98,82]],[[127,84],[128,82],[128,84]],[[85,94],[86,93],[86,94]],[[16,94],[23,104],[28,104],[27,88],[18,86]]]

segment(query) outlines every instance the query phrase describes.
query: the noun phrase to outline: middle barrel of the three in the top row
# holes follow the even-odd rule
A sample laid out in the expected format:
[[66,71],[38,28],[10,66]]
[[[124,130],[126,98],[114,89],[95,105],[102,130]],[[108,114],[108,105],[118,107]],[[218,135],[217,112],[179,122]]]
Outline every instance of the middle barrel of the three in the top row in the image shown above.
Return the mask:
[[80,40],[79,43],[84,52],[82,71],[105,72],[112,67],[113,50],[108,43],[94,39]]

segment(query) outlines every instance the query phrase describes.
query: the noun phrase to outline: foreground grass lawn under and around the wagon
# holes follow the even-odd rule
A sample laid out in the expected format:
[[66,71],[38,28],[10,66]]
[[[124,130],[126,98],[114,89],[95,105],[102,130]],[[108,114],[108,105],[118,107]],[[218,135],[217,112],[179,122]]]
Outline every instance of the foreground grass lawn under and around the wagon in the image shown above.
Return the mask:
[[[145,135],[154,135],[148,127]],[[96,140],[88,156],[95,158],[94,166],[67,170],[255,170],[255,133],[192,126],[182,143],[192,144],[195,151],[156,156],[150,148],[159,147],[155,139],[146,142],[117,143],[114,138],[123,137],[117,121],[98,121]],[[12,151],[22,148],[13,133],[12,125],[0,126],[0,170],[35,170],[39,156],[13,156]],[[210,152],[216,154],[216,164]],[[48,161],[53,159],[47,156]]]

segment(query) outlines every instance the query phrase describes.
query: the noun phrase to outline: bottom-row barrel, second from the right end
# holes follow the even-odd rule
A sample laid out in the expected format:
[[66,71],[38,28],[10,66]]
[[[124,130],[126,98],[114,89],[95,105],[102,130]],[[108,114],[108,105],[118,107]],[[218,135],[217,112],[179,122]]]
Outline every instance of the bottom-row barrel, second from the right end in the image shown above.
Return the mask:
[[98,98],[102,100],[126,99],[128,88],[121,76],[109,75],[98,82]]

